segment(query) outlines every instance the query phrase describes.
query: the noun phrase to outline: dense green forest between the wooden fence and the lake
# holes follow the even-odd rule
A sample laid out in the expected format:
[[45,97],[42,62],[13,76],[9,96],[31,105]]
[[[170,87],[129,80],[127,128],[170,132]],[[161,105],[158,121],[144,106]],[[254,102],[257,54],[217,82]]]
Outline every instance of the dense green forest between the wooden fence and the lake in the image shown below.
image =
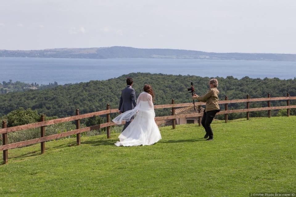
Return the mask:
[[[57,85],[52,88],[41,90],[26,90],[22,92],[8,92],[0,94],[0,117],[7,115],[19,107],[32,109],[39,114],[46,116],[66,117],[75,115],[75,109],[80,109],[80,114],[101,111],[106,109],[107,103],[111,108],[118,108],[121,90],[126,86],[126,78],[134,79],[133,88],[136,96],[142,92],[145,83],[149,83],[155,92],[154,105],[170,104],[174,99],[175,103],[192,102],[191,94],[187,92],[190,82],[195,86],[195,93],[202,95],[208,90],[208,77],[195,75],[170,75],[170,74],[150,74],[150,73],[130,73],[118,78],[108,80],[97,80],[81,82],[76,84]],[[226,78],[216,77],[219,81],[220,100],[224,100],[227,95],[231,99],[243,99],[249,94],[250,98],[286,96],[296,96],[296,78],[281,80],[278,78],[249,78],[241,79],[228,76]],[[286,105],[286,101],[271,102],[272,106]],[[290,101],[291,105],[295,101]],[[221,109],[224,105],[220,105]],[[267,107],[267,102],[251,102],[250,107]],[[245,103],[234,103],[229,105],[229,109],[243,109]],[[156,115],[169,115],[170,109],[158,109]],[[272,111],[277,115],[278,111]],[[295,109],[291,110],[291,115],[296,114]],[[267,112],[252,112],[251,117],[266,116]],[[245,113],[231,114],[229,119],[245,117]],[[218,117],[223,119],[223,116]]]

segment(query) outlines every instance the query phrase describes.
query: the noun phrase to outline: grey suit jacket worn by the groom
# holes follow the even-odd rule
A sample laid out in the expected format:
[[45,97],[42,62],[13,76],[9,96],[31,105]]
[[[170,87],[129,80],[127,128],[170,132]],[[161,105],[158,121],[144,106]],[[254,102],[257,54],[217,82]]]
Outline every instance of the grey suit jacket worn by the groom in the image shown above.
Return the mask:
[[121,97],[119,102],[118,110],[120,112],[129,111],[136,107],[136,93],[131,86],[127,86],[121,91]]

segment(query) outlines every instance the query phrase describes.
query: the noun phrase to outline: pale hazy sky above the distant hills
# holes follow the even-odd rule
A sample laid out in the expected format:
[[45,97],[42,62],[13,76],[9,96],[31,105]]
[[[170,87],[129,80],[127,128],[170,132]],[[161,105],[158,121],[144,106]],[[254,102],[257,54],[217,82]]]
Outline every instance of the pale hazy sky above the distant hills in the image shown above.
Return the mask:
[[0,50],[296,54],[295,0],[0,0]]

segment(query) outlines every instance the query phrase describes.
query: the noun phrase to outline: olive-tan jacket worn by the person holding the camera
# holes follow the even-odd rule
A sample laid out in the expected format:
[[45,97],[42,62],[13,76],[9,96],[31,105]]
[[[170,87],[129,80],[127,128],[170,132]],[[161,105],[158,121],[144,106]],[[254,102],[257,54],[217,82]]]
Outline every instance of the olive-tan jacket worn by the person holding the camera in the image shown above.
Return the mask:
[[219,91],[216,87],[210,88],[207,94],[203,96],[197,97],[200,102],[206,103],[206,112],[212,110],[220,110],[219,107],[219,98],[218,98]]

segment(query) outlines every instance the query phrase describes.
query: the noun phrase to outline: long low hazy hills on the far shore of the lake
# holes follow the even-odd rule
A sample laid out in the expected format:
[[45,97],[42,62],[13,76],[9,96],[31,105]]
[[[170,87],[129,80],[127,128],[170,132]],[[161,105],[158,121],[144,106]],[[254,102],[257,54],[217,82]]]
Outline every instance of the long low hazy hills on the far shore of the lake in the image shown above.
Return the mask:
[[60,48],[45,50],[0,50],[0,57],[35,58],[181,58],[220,60],[296,61],[296,54],[209,53],[178,49],[139,49],[125,46],[101,48]]

